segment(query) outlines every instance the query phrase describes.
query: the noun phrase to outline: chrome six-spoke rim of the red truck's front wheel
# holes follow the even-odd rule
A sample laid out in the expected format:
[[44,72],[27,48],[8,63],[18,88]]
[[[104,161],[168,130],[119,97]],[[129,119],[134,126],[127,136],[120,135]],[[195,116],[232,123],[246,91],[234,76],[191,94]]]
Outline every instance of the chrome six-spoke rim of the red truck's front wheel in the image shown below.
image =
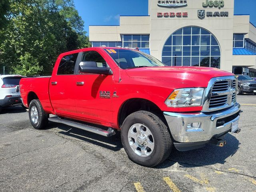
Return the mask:
[[143,124],[133,124],[128,132],[128,141],[135,154],[147,157],[154,150],[154,138],[148,127]]

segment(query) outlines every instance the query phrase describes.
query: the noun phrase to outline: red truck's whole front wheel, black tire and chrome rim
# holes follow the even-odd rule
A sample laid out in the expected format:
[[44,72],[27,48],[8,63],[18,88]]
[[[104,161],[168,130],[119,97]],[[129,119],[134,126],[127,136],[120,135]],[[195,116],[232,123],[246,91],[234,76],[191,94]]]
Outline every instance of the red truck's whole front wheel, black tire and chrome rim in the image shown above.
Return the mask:
[[154,167],[162,163],[172,150],[167,126],[148,111],[134,112],[126,117],[121,139],[128,158],[142,166]]

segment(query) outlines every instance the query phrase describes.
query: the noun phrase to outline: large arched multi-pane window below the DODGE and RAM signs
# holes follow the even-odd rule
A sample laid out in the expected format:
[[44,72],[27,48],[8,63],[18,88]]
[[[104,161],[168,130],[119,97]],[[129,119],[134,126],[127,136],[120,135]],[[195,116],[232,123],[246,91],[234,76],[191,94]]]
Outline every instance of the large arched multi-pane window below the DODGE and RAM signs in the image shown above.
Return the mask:
[[181,28],[166,40],[162,62],[168,66],[220,68],[220,46],[216,38],[203,28]]

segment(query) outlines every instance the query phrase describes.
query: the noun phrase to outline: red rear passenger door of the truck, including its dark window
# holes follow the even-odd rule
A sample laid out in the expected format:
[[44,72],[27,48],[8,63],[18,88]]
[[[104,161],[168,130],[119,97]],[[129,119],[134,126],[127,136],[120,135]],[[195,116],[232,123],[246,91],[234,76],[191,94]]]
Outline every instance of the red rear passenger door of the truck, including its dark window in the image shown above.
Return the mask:
[[[63,56],[59,65],[54,67],[50,79],[49,90],[52,107],[60,116],[76,116],[74,70],[77,58],[78,53]],[[56,69],[57,67],[58,69]]]

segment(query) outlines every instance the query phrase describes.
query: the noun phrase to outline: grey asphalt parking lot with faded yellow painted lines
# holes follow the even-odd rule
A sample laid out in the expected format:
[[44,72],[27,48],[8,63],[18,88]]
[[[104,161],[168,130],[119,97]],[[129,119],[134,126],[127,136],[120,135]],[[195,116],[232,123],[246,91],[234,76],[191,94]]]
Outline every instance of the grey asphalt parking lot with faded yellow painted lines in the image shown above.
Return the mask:
[[35,130],[28,113],[0,114],[0,191],[256,192],[256,96],[238,96],[239,134],[224,147],[174,150],[160,166],[131,162],[120,138],[62,124]]

